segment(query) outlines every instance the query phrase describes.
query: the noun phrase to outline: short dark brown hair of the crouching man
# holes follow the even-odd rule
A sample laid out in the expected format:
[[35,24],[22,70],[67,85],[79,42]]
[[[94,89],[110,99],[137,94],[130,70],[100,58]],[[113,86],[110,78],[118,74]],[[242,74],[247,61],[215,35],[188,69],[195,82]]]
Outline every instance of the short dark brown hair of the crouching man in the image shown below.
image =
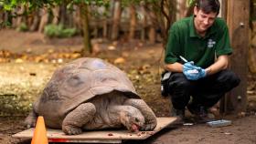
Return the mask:
[[196,6],[206,14],[213,12],[219,15],[219,0],[197,0]]

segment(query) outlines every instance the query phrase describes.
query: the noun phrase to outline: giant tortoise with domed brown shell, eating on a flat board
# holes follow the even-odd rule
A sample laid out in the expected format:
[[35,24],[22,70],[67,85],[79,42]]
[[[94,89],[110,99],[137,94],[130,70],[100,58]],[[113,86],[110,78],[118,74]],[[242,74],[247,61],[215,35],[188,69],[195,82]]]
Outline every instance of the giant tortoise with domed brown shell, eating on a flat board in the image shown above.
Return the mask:
[[68,135],[86,129],[153,130],[155,113],[136,93],[117,67],[99,58],[83,57],[55,71],[25,120],[35,127],[43,116],[46,126]]

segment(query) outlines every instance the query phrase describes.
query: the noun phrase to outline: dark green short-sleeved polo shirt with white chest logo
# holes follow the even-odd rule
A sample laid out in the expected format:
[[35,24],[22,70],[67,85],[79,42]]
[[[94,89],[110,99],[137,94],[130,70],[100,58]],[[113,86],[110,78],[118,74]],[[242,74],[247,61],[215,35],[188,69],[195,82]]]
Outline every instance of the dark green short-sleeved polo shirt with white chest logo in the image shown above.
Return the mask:
[[206,36],[199,36],[194,26],[194,16],[181,19],[169,30],[165,51],[165,63],[183,63],[179,56],[194,61],[198,67],[209,67],[215,57],[230,55],[229,30],[225,21],[219,17],[208,28]]

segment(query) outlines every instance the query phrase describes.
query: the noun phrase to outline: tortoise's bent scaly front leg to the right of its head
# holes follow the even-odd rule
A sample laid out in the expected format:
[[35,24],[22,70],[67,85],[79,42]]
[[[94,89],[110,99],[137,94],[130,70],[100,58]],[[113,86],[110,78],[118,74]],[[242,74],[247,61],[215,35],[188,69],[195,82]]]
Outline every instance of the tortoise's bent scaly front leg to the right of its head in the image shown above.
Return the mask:
[[144,102],[143,99],[130,98],[124,102],[124,105],[133,106],[138,108],[144,115],[145,124],[141,130],[153,130],[156,127],[156,117],[155,113],[148,105]]

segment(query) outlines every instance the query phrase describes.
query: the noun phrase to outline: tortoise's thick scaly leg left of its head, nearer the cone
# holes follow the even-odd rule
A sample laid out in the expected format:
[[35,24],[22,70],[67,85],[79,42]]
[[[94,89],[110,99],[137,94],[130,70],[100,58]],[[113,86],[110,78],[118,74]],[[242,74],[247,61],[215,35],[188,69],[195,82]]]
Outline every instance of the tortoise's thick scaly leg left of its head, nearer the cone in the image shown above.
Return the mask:
[[67,135],[82,133],[82,126],[89,122],[95,115],[96,108],[92,103],[80,104],[64,118],[62,130]]

